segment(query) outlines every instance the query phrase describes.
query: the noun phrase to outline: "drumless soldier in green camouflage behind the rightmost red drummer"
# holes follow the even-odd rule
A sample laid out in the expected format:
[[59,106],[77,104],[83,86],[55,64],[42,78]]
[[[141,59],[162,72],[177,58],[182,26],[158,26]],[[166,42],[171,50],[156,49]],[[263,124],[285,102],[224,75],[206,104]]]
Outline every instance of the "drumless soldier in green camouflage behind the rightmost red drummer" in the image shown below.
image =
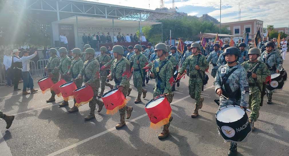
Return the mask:
[[205,70],[209,68],[209,64],[206,57],[199,54],[201,47],[198,43],[192,43],[190,49],[192,50],[192,55],[186,58],[185,62],[182,64],[177,78],[180,77],[181,74],[184,73],[186,67],[189,66],[189,94],[192,99],[196,100],[196,107],[191,117],[196,118],[199,115],[199,109],[203,107],[204,98],[201,97],[201,91],[203,88]]

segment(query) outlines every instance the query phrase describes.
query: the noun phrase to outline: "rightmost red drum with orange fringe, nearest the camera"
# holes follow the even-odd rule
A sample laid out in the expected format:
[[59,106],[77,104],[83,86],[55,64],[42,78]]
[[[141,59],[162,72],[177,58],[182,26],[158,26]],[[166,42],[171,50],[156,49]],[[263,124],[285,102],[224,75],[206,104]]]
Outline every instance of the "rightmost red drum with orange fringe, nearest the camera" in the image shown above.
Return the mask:
[[144,109],[151,121],[151,128],[159,129],[163,125],[169,123],[172,108],[164,96],[158,96],[151,99],[147,104],[145,104]]

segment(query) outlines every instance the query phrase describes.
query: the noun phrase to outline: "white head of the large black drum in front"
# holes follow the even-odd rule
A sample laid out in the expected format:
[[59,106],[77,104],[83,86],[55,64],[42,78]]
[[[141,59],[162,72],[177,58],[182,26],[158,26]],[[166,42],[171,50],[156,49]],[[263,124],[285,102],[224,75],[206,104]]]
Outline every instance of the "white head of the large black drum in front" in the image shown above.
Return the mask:
[[240,107],[234,107],[233,105],[231,107],[225,107],[224,109],[221,109],[217,112],[216,118],[220,122],[235,122],[240,120],[245,114],[244,109]]

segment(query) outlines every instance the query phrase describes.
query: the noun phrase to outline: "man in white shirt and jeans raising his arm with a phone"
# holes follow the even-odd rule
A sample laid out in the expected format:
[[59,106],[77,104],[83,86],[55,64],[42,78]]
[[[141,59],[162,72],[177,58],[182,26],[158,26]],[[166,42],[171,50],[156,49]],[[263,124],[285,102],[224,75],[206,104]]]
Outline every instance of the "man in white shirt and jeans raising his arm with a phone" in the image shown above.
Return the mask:
[[30,70],[29,61],[37,55],[37,51],[35,51],[34,54],[32,54],[30,56],[28,56],[29,52],[26,50],[24,50],[22,53],[23,53],[23,57],[21,57],[21,59],[17,60],[17,62],[22,62],[22,77],[23,77],[22,95],[27,95],[27,94],[30,94],[29,92],[26,91],[27,87],[30,88],[31,93],[38,91],[38,90],[35,90],[33,88],[34,87],[33,79],[32,79],[31,74],[29,72],[29,70]]

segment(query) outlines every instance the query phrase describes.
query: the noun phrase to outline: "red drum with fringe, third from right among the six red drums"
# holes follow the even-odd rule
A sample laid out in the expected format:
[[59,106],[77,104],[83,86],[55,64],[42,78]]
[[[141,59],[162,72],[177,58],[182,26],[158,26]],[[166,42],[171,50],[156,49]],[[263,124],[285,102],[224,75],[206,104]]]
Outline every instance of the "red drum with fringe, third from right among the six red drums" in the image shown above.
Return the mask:
[[90,86],[82,86],[73,90],[73,96],[76,100],[75,106],[80,107],[92,100],[93,90]]

